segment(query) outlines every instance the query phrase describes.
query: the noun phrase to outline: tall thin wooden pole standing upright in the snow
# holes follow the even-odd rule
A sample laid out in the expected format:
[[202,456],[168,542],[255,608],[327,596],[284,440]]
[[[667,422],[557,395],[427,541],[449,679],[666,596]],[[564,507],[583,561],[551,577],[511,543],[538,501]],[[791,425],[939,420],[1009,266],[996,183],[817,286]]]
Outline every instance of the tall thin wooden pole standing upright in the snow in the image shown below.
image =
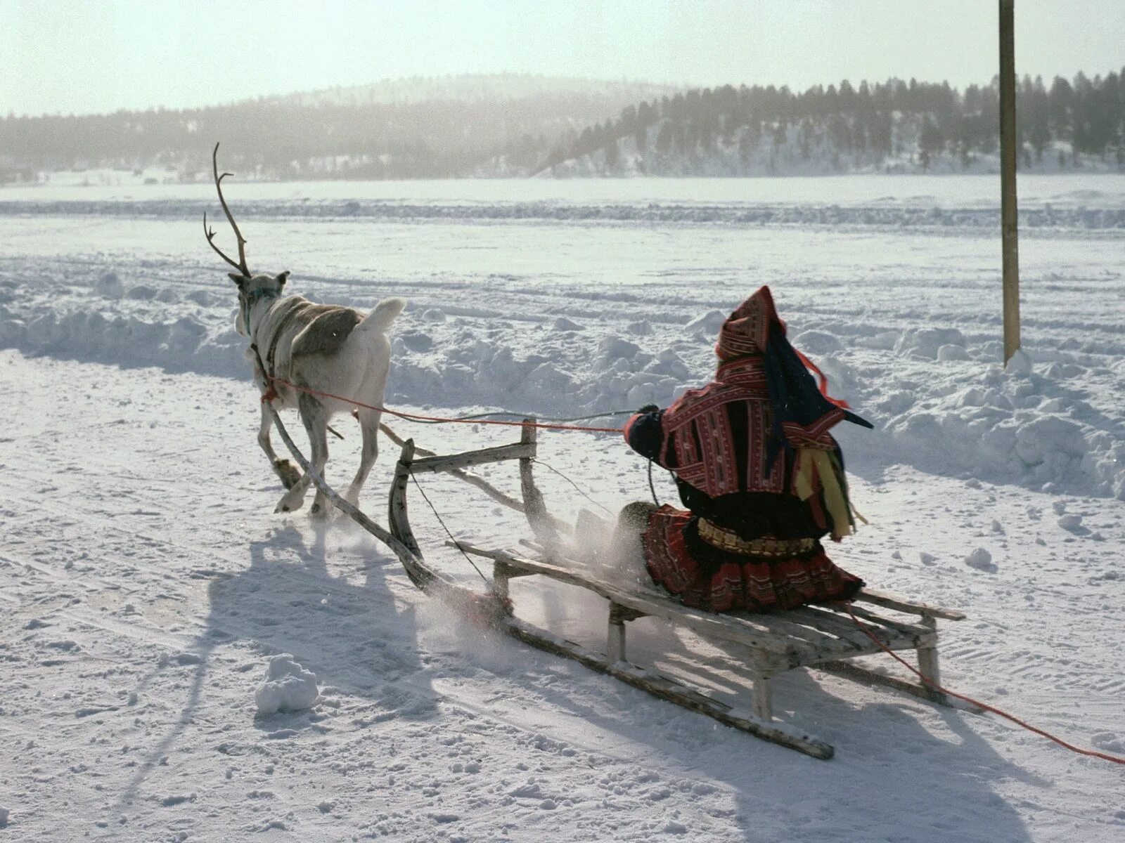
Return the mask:
[[1019,350],[1019,242],[1016,211],[1015,0],[1000,0],[1000,227],[1004,243],[1004,363]]

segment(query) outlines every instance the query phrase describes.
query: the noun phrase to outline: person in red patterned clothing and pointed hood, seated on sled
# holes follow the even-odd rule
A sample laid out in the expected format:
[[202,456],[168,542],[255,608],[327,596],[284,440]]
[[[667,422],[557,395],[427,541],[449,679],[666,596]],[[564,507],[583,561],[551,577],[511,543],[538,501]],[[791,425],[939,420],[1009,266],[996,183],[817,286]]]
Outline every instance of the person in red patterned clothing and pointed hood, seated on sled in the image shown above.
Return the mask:
[[863,580],[820,544],[855,524],[829,428],[871,424],[827,396],[824,375],[785,337],[768,287],[723,323],[716,353],[711,383],[626,423],[629,446],[675,474],[687,509],[630,504],[618,552],[642,553],[657,584],[709,611],[850,598]]

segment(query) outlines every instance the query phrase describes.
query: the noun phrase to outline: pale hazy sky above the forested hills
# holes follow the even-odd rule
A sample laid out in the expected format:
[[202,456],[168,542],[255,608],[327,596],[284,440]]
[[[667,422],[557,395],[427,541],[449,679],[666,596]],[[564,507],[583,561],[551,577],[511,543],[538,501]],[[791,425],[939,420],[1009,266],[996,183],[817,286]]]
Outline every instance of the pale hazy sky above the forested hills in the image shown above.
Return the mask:
[[[1016,72],[1125,65],[1125,0],[1018,0]],[[997,0],[0,0],[0,114],[183,108],[402,76],[987,82]]]

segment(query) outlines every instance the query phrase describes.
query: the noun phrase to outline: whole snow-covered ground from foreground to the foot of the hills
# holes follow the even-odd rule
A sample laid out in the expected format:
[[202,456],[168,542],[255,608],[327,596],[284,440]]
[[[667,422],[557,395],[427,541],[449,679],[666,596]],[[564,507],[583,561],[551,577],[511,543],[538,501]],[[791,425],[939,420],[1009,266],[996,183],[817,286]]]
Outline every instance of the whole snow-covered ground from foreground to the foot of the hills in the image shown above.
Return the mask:
[[[795,344],[876,424],[842,430],[872,523],[837,560],[969,614],[943,625],[951,687],[1122,754],[1125,178],[1020,188],[1027,357],[1007,373],[994,179],[227,192],[251,266],[292,270],[292,291],[410,299],[388,391],[403,409],[667,404],[708,378],[724,312],[770,283]],[[836,746],[814,761],[482,636],[350,522],[272,515],[204,208],[206,185],[0,191],[0,839],[1125,837],[1120,768],[999,719],[783,674],[775,710]],[[514,438],[389,423],[439,452]],[[338,427],[339,484],[358,430]],[[379,520],[395,452],[363,498]],[[540,454],[611,510],[647,495],[616,437],[547,434]],[[539,477],[556,514],[591,506]],[[526,535],[468,487],[428,487],[461,536]],[[428,555],[471,582],[412,515]],[[968,564],[978,549],[990,561]],[[598,646],[597,600],[518,586],[521,609]],[[637,661],[745,703],[737,647],[631,628]],[[320,700],[258,715],[280,653]]]

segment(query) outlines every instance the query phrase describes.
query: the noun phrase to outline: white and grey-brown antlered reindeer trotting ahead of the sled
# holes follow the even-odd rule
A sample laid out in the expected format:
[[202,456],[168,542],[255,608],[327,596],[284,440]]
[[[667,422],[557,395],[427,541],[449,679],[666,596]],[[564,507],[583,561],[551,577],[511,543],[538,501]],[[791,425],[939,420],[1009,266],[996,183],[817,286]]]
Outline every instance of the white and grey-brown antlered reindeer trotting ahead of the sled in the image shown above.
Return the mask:
[[[207,225],[206,212],[204,234],[218,256],[237,270],[227,273],[238,288],[238,315],[234,325],[240,334],[250,339],[246,357],[253,361],[254,382],[263,396],[272,398],[276,393],[277,398],[272,398],[274,408],[297,408],[312,444],[310,462],[321,477],[324,477],[328,459],[330,419],[336,413],[346,411],[359,419],[363,435],[362,456],[359,471],[344,495],[352,505],[358,505],[360,490],[379,454],[377,436],[381,414],[368,407],[353,410],[352,405],[345,401],[318,393],[331,392],[374,407],[382,405],[390,369],[390,343],[386,332],[406,307],[406,300],[384,299],[370,314],[363,315],[350,307],[315,305],[302,296],[285,296],[288,270],[277,275],[252,274],[246,264],[246,241],[223,197],[223,179],[231,173],[219,175],[218,144],[212,152],[212,169],[219,202],[238,242],[237,263],[215,245],[215,232]],[[315,390],[317,395],[292,389],[274,379]],[[270,443],[272,418],[266,400],[262,400],[258,444],[288,489],[273,511],[296,511],[304,506],[312,478],[308,473],[300,474],[291,462],[278,459],[274,453]],[[309,511],[322,517],[327,510],[327,498],[317,490]]]

